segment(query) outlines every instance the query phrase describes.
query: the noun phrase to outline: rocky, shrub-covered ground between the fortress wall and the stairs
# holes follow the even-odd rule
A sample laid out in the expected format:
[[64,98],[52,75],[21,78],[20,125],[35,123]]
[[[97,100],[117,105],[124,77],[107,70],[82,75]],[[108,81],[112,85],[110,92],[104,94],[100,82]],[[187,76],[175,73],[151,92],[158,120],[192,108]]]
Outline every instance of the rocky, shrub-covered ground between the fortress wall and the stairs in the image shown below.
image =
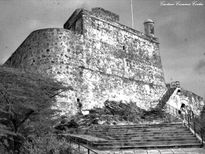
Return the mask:
[[[73,118],[63,117],[55,127],[59,131],[77,132],[79,128],[95,127],[96,125],[134,125],[147,123],[166,123],[178,121],[163,110],[146,111],[134,103],[105,101],[103,108],[94,108],[87,115],[76,115]],[[78,132],[79,133],[79,132]]]

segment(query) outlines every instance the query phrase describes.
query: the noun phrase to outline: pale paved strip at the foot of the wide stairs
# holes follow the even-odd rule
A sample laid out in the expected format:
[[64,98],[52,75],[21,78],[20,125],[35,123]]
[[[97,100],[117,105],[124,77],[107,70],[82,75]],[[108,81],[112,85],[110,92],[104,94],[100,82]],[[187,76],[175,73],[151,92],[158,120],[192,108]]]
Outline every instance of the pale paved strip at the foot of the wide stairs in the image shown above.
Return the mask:
[[101,151],[99,154],[205,154],[205,148]]

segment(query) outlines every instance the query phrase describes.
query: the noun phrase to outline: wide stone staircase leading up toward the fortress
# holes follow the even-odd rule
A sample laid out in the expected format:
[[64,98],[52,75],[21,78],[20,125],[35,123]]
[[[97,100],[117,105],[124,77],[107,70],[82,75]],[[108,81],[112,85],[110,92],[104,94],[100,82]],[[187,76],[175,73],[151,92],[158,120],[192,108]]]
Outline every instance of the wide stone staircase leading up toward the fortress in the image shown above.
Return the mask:
[[96,150],[201,146],[197,138],[181,123],[96,126],[89,132],[90,136],[98,136],[101,140],[85,140],[79,136],[72,136],[72,139]]

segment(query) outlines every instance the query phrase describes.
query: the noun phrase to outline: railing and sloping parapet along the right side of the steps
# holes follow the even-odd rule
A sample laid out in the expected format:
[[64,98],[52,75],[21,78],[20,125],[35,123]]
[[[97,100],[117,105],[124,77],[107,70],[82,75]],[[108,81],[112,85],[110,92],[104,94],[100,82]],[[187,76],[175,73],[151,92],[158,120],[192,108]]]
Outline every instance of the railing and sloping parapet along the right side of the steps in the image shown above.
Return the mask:
[[200,123],[197,119],[199,116],[195,115],[193,111],[185,111],[184,113],[178,113],[179,110],[174,108],[173,106],[166,103],[165,110],[167,110],[173,116],[183,120],[184,125],[189,128],[192,133],[201,141],[201,146],[204,145],[205,142],[205,129],[201,127]]

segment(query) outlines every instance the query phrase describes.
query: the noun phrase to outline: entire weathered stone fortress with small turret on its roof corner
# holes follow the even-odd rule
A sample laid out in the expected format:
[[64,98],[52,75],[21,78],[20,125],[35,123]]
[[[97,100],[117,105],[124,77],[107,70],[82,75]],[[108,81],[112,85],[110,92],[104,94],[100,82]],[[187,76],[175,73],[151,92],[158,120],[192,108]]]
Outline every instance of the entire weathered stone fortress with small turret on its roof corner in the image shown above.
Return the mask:
[[[77,99],[83,110],[102,107],[106,100],[135,102],[149,110],[170,87],[154,22],[145,21],[144,29],[142,33],[122,25],[118,15],[102,8],[76,9],[63,28],[32,32],[5,65],[32,69],[73,87],[58,98],[63,114],[77,112]],[[167,102],[177,106],[176,95]],[[202,111],[201,97],[185,90],[179,97],[196,113]]]

